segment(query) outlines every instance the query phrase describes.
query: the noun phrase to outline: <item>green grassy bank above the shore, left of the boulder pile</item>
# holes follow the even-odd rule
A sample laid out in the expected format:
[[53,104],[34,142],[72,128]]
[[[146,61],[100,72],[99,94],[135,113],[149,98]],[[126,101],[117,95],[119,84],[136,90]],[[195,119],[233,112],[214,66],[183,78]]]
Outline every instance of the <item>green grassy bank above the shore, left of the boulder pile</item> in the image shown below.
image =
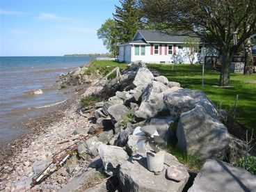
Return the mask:
[[[97,74],[99,73],[102,76],[105,76],[115,67],[119,67],[120,70],[125,70],[128,65],[126,63],[119,63],[117,61],[99,61],[93,60],[88,65],[88,70],[86,70],[86,74]],[[110,77],[113,78],[114,74]]]

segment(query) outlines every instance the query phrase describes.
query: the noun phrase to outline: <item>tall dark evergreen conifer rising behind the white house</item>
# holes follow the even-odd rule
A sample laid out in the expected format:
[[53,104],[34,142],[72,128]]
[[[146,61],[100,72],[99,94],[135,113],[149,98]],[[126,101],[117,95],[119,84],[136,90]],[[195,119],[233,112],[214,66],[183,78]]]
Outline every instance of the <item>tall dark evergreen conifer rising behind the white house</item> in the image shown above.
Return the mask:
[[121,6],[115,6],[113,17],[118,31],[118,42],[129,42],[141,29],[141,12],[136,7],[136,0],[120,0]]

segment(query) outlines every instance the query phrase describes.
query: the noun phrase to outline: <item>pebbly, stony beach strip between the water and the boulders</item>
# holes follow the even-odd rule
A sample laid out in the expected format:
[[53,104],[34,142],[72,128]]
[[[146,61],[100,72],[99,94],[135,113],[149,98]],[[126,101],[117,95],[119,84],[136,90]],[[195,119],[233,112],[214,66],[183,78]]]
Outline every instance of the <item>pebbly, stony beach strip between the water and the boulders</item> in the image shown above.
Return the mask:
[[[60,169],[33,189],[30,186],[34,163],[51,161],[54,154],[75,142],[58,144],[60,141],[73,138],[72,133],[77,127],[90,127],[88,118],[77,113],[81,94],[86,88],[86,85],[80,86],[74,98],[54,106],[50,113],[27,122],[30,133],[1,149],[0,191],[58,191],[75,176]],[[78,169],[82,170],[86,165],[80,164]],[[62,173],[58,173],[59,171]]]

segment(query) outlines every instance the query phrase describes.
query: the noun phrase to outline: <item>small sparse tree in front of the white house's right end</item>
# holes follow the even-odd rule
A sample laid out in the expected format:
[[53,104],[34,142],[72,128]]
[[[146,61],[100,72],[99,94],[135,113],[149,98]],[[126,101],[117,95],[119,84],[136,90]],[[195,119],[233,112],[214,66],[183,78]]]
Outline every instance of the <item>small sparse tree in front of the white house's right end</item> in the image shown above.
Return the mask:
[[198,38],[185,37],[184,38],[184,47],[190,48],[186,49],[186,56],[189,57],[189,62],[194,64],[195,56],[199,51],[199,42]]

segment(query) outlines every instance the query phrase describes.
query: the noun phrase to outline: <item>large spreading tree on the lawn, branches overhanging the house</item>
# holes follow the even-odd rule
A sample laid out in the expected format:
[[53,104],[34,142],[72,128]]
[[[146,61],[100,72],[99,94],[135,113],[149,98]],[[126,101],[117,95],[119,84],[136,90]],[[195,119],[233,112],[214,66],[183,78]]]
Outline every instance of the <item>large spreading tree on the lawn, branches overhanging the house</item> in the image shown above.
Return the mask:
[[149,21],[192,32],[215,47],[221,54],[219,85],[229,86],[233,56],[256,33],[255,0],[140,0],[139,6]]

